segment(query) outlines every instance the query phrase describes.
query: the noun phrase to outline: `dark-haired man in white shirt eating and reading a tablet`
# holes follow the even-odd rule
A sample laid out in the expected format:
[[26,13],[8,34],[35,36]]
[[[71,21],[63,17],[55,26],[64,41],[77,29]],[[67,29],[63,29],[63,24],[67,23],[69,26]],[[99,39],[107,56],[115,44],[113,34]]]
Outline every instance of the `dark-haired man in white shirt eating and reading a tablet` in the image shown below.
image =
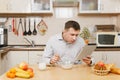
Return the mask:
[[[60,34],[51,37],[43,54],[46,64],[55,64],[59,61],[70,60],[75,62],[76,56],[85,46],[85,42],[79,37],[80,25],[76,21],[68,21]],[[83,58],[83,61],[90,65],[91,57]]]

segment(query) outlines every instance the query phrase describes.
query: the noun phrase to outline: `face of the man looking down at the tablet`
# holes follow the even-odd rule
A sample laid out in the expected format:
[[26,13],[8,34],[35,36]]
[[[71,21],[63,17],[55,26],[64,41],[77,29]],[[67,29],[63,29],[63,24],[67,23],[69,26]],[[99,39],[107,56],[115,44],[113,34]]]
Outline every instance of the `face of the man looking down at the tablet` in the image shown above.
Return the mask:
[[73,28],[63,31],[63,39],[68,43],[74,43],[80,33],[80,30],[74,30]]

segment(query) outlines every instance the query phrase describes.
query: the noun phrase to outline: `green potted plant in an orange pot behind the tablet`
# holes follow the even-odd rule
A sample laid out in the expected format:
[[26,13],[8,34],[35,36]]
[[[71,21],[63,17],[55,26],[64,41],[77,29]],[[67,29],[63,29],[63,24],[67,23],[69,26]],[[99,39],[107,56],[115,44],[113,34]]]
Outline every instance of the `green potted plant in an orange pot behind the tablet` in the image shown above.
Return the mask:
[[83,28],[82,32],[80,33],[80,37],[82,37],[85,40],[86,44],[88,44],[89,42],[88,39],[90,37],[90,31],[87,27]]

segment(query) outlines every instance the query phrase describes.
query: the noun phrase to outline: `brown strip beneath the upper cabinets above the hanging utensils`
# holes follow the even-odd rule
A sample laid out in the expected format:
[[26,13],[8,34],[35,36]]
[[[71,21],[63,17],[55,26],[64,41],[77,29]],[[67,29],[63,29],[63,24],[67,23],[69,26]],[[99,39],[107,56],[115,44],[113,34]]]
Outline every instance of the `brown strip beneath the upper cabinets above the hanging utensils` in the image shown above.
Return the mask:
[[52,15],[53,15],[52,13],[0,13],[0,17],[30,17],[30,16],[46,17]]

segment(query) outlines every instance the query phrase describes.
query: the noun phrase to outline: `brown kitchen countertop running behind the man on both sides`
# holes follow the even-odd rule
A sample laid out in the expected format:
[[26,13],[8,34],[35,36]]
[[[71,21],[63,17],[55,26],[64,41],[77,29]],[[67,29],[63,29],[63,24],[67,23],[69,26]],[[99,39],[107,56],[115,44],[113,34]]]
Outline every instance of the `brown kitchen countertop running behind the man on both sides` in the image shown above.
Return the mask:
[[[96,44],[88,44],[88,46],[96,46]],[[0,54],[8,51],[44,51],[45,45],[9,45],[0,48]],[[96,47],[94,51],[120,51],[120,47]]]

